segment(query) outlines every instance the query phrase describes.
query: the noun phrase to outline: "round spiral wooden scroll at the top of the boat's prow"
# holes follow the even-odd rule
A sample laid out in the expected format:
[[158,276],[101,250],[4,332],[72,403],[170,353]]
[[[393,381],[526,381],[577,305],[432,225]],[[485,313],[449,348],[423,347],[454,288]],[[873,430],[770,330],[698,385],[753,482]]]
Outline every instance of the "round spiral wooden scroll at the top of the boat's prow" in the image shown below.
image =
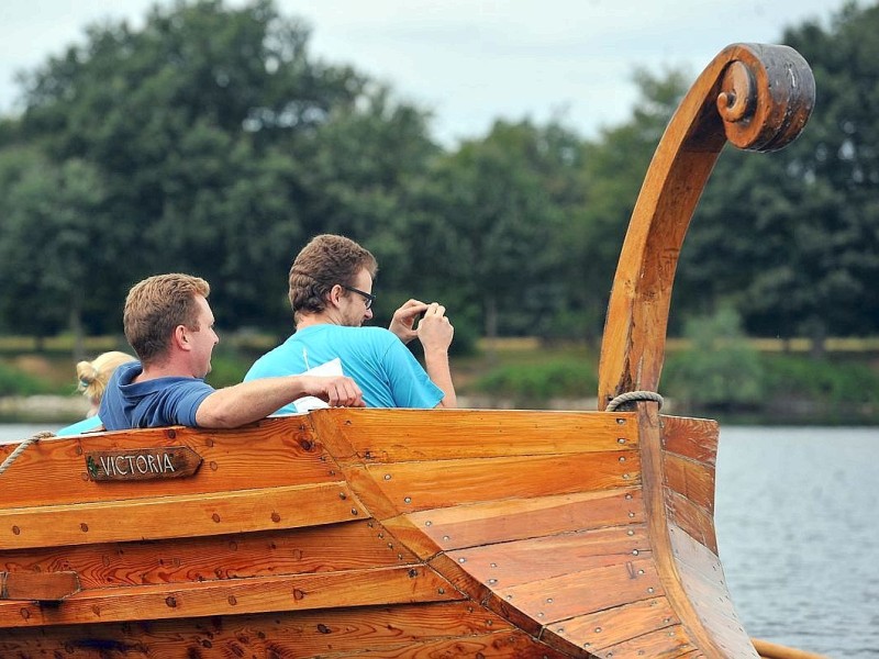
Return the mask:
[[724,70],[716,105],[730,142],[771,152],[802,132],[814,99],[812,70],[797,51],[749,44],[737,49]]

